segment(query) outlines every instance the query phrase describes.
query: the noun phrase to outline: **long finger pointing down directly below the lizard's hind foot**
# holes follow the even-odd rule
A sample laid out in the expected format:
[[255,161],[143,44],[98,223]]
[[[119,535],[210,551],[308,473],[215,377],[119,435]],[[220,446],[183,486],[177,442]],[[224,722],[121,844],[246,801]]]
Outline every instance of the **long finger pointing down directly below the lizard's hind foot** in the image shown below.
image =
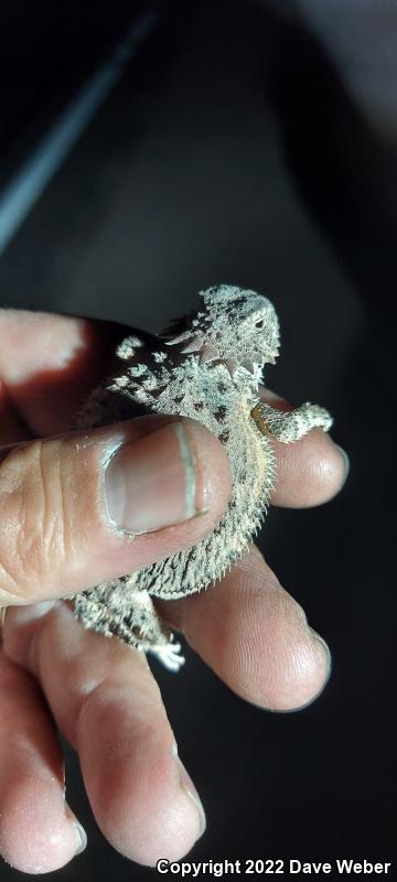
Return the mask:
[[9,610],[4,649],[39,679],[78,751],[94,815],[126,857],[178,860],[203,831],[194,786],[175,752],[143,654],[86,632],[63,603]]

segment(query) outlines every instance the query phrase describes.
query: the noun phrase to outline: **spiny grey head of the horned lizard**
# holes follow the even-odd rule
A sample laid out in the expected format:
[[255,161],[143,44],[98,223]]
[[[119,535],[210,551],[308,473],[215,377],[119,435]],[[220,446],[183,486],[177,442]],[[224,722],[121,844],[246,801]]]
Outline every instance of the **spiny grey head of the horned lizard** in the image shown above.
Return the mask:
[[279,323],[272,303],[255,291],[219,284],[202,291],[204,309],[187,318],[182,334],[169,345],[183,344],[183,353],[200,361],[226,363],[257,375],[265,364],[275,364],[279,348]]

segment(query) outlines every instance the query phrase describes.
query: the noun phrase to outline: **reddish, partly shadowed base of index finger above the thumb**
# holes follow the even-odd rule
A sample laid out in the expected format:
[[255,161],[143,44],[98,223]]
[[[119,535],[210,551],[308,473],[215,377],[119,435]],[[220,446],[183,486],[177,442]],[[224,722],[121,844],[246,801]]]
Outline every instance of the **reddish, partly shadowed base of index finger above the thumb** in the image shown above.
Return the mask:
[[110,373],[126,333],[112,322],[0,310],[0,378],[31,434],[71,428],[79,402]]

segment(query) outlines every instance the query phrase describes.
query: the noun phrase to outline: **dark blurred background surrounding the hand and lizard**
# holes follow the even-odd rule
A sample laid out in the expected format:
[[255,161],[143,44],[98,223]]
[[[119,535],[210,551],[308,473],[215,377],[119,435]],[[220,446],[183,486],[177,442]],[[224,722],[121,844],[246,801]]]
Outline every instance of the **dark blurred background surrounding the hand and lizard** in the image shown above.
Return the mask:
[[[17,0],[3,13],[1,185],[144,6]],[[380,0],[160,3],[0,258],[1,305],[154,331],[215,282],[270,295],[282,347],[269,385],[329,407],[351,455],[341,497],[275,509],[260,537],[332,648],[321,698],[271,714],[189,650],[179,677],[155,669],[207,811],[195,860],[396,851],[396,37]],[[68,764],[88,847],[56,876],[154,878],[105,842]]]

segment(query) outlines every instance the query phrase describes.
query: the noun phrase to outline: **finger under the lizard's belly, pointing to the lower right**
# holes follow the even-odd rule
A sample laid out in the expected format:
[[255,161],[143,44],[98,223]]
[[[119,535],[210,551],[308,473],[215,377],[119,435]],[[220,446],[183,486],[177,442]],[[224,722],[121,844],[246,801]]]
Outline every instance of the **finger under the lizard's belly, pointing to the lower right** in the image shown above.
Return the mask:
[[312,686],[321,691],[328,659],[302,607],[258,564],[266,568],[253,546],[236,568],[238,581],[227,576],[217,595],[206,594],[203,604],[195,598],[178,603],[171,620],[178,619],[193,648],[246,700],[293,709],[310,702]]

